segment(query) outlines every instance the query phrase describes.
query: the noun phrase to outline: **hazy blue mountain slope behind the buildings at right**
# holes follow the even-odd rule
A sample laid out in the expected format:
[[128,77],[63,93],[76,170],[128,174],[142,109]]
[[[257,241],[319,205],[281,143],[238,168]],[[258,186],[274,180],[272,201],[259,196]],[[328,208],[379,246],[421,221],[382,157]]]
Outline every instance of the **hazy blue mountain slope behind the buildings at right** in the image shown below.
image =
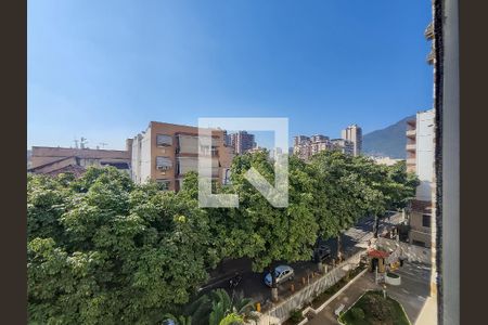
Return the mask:
[[415,116],[409,116],[395,125],[364,134],[362,136],[362,152],[371,156],[387,156],[396,159],[404,159],[407,121]]

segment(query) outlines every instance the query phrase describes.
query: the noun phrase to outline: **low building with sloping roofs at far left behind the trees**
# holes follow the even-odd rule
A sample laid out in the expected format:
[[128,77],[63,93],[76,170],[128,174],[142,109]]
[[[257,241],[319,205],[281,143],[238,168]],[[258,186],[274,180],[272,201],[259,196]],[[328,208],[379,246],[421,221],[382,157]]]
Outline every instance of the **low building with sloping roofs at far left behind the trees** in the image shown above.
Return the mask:
[[33,146],[27,171],[49,176],[70,172],[78,177],[90,166],[113,166],[130,172],[131,142],[126,144],[126,151]]

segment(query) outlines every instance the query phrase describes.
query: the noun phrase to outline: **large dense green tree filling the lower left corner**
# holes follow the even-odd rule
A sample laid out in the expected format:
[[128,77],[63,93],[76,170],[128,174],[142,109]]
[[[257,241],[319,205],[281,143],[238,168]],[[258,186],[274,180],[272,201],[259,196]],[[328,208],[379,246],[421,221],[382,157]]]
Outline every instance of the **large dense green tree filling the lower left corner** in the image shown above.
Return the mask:
[[194,199],[114,168],[28,178],[29,322],[154,324],[215,264]]

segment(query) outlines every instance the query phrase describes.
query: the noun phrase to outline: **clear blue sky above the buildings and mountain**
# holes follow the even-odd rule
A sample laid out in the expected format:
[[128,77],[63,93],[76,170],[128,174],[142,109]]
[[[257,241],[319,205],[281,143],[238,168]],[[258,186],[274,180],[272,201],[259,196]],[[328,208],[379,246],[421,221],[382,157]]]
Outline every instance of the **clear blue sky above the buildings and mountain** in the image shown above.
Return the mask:
[[339,138],[432,106],[429,0],[29,0],[27,14],[28,147],[124,148],[151,120],[198,117]]

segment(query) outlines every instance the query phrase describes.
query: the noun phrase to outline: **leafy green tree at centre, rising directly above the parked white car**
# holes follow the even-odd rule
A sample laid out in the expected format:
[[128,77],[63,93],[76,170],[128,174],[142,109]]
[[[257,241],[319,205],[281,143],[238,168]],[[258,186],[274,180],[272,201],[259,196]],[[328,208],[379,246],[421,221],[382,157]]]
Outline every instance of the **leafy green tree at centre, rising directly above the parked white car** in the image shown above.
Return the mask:
[[[233,258],[247,257],[253,270],[268,269],[272,275],[272,296],[278,297],[274,274],[277,261],[309,260],[319,226],[310,210],[313,191],[304,171],[305,164],[296,157],[290,158],[290,204],[287,208],[274,208],[244,178],[254,167],[270,183],[274,172],[267,152],[241,155],[232,164],[232,191],[239,194],[239,209],[230,209],[226,216],[228,255]],[[231,191],[231,190],[229,190]]]

